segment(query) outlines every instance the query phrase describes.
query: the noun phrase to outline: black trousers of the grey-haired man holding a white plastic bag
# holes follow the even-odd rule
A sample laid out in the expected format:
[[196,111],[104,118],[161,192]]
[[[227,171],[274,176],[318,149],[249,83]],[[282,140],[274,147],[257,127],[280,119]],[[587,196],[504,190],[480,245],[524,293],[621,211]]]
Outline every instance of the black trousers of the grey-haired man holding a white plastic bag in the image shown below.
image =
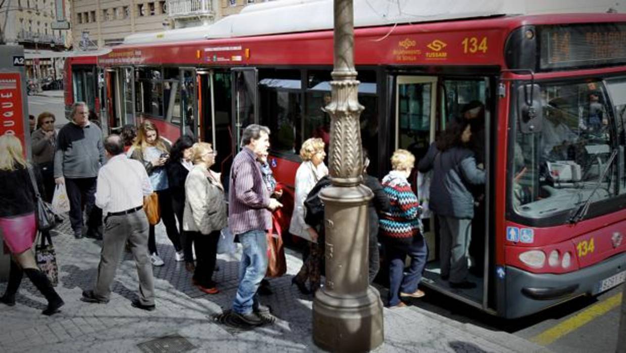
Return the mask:
[[83,203],[87,214],[87,228],[102,227],[102,210],[95,205],[96,178],[65,178],[65,188],[69,198],[69,223],[74,233],[83,230]]

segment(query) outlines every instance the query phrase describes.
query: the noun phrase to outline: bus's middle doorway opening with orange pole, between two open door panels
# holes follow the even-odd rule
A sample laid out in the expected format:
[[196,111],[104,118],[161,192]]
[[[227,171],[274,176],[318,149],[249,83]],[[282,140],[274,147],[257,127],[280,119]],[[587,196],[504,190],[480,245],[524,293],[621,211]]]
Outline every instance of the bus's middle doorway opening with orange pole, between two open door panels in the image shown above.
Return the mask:
[[232,135],[232,73],[230,70],[198,70],[198,120],[200,140],[213,145],[215,166],[222,172],[223,185],[230,171],[233,156]]

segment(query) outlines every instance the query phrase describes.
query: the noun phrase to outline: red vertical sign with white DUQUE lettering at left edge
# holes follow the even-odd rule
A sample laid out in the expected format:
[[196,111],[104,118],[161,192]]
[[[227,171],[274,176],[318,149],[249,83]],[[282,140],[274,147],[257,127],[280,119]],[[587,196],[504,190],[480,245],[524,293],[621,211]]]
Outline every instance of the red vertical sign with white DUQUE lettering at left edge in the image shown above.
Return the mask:
[[[0,135],[18,137],[24,146],[24,112],[22,109],[22,85],[18,72],[0,73]],[[24,146],[24,152],[26,148]]]

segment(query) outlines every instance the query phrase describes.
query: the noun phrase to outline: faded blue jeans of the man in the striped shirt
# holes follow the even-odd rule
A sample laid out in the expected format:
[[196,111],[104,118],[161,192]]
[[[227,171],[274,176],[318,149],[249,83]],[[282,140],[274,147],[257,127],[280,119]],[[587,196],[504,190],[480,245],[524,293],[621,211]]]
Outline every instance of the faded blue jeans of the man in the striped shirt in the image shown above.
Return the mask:
[[259,305],[257,290],[267,271],[265,231],[251,230],[239,235],[244,248],[239,265],[239,288],[233,300],[233,312],[247,314]]

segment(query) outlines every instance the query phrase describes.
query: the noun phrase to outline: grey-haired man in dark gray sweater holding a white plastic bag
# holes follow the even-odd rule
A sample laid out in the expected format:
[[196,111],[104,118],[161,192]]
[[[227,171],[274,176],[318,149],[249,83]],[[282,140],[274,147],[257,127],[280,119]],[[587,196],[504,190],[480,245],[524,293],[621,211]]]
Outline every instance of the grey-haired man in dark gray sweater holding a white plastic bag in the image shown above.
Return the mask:
[[90,124],[89,108],[84,102],[72,106],[72,121],[66,124],[56,138],[54,153],[54,182],[65,184],[69,198],[69,221],[74,237],[83,237],[83,197],[88,215],[87,234],[101,237],[102,211],[94,206],[96,177],[105,163],[102,131]]

